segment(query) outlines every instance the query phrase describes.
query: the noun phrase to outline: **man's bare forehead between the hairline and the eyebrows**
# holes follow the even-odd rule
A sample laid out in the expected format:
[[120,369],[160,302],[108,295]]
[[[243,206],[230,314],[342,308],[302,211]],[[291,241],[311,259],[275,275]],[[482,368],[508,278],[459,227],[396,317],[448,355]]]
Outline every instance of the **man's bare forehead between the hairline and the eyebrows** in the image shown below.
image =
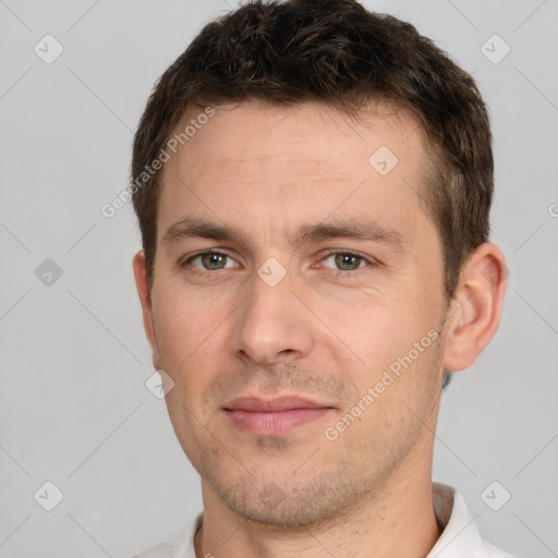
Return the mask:
[[[185,213],[274,233],[295,216],[315,221],[368,208],[376,220],[411,226],[427,150],[407,111],[371,105],[354,119],[320,104],[258,101],[215,111],[165,165],[159,239]],[[195,122],[190,110],[174,133]]]

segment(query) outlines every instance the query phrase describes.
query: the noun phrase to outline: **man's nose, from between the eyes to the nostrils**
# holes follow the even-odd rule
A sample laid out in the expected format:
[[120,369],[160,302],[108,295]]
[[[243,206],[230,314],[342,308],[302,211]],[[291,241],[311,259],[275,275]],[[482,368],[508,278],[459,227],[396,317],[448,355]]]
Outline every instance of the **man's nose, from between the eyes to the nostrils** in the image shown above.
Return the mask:
[[260,365],[307,355],[314,344],[312,312],[293,292],[290,274],[275,286],[254,274],[252,287],[235,313],[234,353]]

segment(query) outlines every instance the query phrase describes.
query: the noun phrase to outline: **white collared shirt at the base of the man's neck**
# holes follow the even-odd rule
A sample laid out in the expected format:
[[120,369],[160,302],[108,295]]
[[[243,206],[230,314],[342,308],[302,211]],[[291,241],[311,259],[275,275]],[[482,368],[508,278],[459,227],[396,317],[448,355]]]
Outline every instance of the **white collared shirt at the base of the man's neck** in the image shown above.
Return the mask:
[[[442,483],[432,483],[434,512],[444,531],[425,558],[514,558],[483,541],[461,493]],[[134,558],[196,558],[194,537],[202,525],[199,513],[172,542]]]

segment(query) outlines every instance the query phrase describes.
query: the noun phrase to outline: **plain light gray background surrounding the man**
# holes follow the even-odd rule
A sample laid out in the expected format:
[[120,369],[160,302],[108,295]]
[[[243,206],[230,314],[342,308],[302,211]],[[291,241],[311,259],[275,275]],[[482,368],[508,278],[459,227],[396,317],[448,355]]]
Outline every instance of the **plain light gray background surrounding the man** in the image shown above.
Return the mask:
[[[100,207],[126,186],[154,82],[229,5],[0,0],[2,557],[131,556],[201,510],[197,474],[144,385],[131,206],[111,219]],[[463,493],[497,546],[558,556],[558,4],[366,5],[412,22],[472,72],[494,124],[492,240],[508,291],[495,339],[442,396],[434,477]],[[47,34],[64,48],[50,64],[34,52]],[[499,63],[494,34],[511,48]],[[52,511],[34,498],[46,481],[64,495]],[[494,481],[493,507],[511,494],[499,511],[482,497]]]

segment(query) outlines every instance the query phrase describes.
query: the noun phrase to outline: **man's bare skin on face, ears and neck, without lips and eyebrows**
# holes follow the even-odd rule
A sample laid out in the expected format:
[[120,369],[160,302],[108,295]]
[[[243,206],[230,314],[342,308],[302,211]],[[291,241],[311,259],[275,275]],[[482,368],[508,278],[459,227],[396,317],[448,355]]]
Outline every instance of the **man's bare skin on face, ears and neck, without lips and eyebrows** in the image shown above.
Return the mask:
[[[447,303],[440,240],[418,199],[425,136],[404,112],[371,106],[363,116],[318,104],[222,107],[165,166],[151,291],[142,252],[133,267],[154,366],[174,381],[170,418],[202,476],[198,557],[418,558],[440,536],[432,458],[442,371],[470,366],[494,336],[505,262],[496,245],[480,246]],[[399,159],[386,175],[368,163],[380,146]],[[244,240],[163,242],[185,217]],[[289,243],[302,226],[356,217],[401,245]],[[227,257],[178,265],[208,248]],[[257,274],[268,258],[286,271],[275,287]],[[327,439],[428,331],[438,338]],[[254,435],[223,411],[246,395],[330,409],[289,434]]]

